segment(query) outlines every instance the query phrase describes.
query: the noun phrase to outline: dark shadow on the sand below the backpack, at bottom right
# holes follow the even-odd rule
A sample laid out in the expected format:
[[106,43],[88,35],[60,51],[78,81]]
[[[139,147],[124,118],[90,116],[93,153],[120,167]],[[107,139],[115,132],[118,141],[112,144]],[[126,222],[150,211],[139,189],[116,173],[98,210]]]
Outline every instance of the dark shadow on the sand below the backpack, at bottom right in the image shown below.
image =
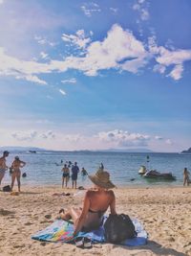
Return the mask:
[[187,256],[187,254],[185,253],[182,253],[180,251],[177,251],[175,249],[172,249],[172,248],[166,248],[166,247],[163,247],[161,244],[158,244],[156,243],[155,241],[151,241],[151,240],[148,240],[148,243],[145,244],[145,245],[140,245],[140,246],[124,246],[124,245],[115,245],[115,247],[123,247],[123,248],[126,248],[128,250],[134,250],[134,249],[140,249],[140,250],[150,250],[152,251],[153,253],[155,253],[156,255],[173,255],[173,256]]

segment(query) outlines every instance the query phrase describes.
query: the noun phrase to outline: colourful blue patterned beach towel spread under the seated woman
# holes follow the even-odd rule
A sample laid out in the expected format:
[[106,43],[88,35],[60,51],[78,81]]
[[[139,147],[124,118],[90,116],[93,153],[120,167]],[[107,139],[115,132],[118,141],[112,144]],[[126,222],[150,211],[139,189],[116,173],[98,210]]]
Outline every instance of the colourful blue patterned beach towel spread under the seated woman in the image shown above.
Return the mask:
[[[144,230],[142,224],[137,219],[132,219],[132,221],[135,224],[136,231],[138,232],[138,237],[133,239],[126,239],[120,244],[128,246],[138,246],[146,244],[147,233]],[[73,222],[56,220],[50,226],[33,235],[32,239],[45,242],[74,243],[73,232]],[[88,237],[92,240],[93,244],[105,242],[103,226],[100,226],[98,229],[91,232],[79,232],[76,237]]]

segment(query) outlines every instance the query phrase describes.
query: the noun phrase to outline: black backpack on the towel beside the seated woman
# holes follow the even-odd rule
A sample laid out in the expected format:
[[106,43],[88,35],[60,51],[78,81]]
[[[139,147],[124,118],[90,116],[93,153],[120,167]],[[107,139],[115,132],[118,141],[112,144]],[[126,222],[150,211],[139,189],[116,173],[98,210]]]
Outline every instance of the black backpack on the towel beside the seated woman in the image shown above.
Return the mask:
[[134,223],[129,216],[125,214],[110,214],[104,223],[104,229],[106,241],[112,244],[137,237]]

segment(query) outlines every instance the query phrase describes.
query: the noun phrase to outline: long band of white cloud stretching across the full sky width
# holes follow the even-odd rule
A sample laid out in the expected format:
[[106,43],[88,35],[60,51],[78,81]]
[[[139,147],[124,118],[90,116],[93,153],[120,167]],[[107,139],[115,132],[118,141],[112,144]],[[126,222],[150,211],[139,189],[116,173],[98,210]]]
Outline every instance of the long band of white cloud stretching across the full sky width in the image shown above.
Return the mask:
[[[27,61],[11,57],[4,48],[0,47],[0,75],[47,84],[46,81],[39,79],[38,75],[66,72],[68,69],[81,71],[86,76],[97,76],[101,70],[109,69],[137,74],[151,58],[155,58],[157,62],[154,66],[155,72],[164,74],[167,66],[174,65],[168,76],[174,80],[180,80],[183,62],[191,59],[191,50],[167,50],[163,46],[157,45],[155,36],[148,38],[147,51],[146,46],[132,32],[123,30],[117,24],[113,25],[106,37],[100,41],[85,40],[84,42],[83,40],[87,38],[83,30],[77,31],[74,37],[73,35],[68,36],[65,38],[83,48],[82,57],[69,56],[63,60],[49,59],[46,63],[42,63],[37,60]],[[77,38],[81,38],[82,41],[79,42]],[[41,56],[47,58],[44,52],[41,52]],[[60,93],[65,95],[65,92]]]

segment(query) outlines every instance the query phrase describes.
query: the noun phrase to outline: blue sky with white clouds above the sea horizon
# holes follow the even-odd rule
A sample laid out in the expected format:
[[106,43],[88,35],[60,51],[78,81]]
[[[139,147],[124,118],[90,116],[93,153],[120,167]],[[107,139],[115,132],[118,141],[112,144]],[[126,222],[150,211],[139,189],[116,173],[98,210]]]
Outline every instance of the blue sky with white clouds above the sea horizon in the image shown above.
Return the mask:
[[191,147],[190,0],[0,0],[0,146]]

